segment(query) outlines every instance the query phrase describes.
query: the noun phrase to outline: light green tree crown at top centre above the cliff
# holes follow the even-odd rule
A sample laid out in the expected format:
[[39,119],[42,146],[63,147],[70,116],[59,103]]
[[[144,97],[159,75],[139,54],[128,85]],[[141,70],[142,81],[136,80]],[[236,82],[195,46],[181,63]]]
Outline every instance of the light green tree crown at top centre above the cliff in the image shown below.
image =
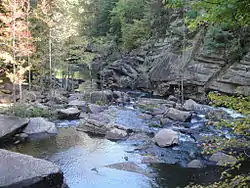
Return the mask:
[[124,49],[134,49],[148,37],[149,22],[143,19],[147,2],[148,0],[119,0],[112,10],[113,30],[118,31],[118,36],[121,36]]

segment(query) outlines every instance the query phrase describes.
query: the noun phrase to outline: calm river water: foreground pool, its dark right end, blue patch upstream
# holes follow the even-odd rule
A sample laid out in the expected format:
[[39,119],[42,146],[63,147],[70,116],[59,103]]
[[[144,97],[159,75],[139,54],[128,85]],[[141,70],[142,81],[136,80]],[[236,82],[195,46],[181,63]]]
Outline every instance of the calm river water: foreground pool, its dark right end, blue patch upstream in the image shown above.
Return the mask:
[[[110,107],[114,121],[130,126],[144,128],[146,121],[138,118],[138,111]],[[198,120],[193,120],[197,124]],[[79,121],[57,122],[59,134],[43,140],[33,140],[10,148],[12,151],[29,154],[54,162],[63,171],[66,183],[70,188],[153,188],[184,187],[190,182],[208,183],[218,179],[219,170],[214,167],[204,169],[182,168],[180,165],[142,164],[142,156],[134,152],[135,143],[131,141],[111,142],[104,138],[94,138],[78,132]],[[153,131],[154,128],[149,128]],[[185,137],[183,137],[185,140]],[[190,148],[190,147],[188,147]],[[164,149],[168,151],[167,149]],[[178,153],[178,147],[175,147]],[[180,157],[181,154],[179,154]],[[179,156],[178,156],[179,157]],[[153,176],[142,173],[117,170],[107,165],[122,162],[133,162]]]

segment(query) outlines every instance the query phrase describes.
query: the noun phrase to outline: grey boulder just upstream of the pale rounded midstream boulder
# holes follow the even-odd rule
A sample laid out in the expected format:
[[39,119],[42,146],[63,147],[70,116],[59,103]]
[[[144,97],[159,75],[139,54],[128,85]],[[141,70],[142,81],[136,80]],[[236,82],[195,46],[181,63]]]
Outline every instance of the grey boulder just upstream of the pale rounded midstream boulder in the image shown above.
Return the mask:
[[177,110],[174,108],[169,108],[164,117],[170,118],[175,121],[189,121],[191,119],[192,114],[190,112]]

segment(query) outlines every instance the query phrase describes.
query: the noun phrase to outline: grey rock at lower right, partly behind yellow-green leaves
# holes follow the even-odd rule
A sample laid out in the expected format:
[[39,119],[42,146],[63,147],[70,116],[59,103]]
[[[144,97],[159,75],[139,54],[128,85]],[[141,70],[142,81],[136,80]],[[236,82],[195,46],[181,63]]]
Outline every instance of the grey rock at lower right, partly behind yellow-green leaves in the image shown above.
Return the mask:
[[227,155],[222,152],[217,152],[213,154],[210,158],[210,161],[216,162],[216,165],[219,166],[228,166],[235,164],[237,162],[237,159],[231,155]]

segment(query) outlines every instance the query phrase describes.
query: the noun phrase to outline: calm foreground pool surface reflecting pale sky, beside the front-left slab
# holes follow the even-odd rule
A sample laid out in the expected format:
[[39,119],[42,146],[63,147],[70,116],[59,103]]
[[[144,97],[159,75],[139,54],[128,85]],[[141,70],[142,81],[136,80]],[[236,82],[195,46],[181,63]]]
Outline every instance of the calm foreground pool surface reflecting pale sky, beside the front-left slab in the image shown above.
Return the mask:
[[[60,166],[70,188],[149,188],[144,175],[106,168],[106,165],[140,161],[140,156],[126,153],[125,144],[91,138],[73,128],[60,129],[56,137],[15,146],[12,151],[50,160]],[[93,170],[95,169],[95,170]]]

